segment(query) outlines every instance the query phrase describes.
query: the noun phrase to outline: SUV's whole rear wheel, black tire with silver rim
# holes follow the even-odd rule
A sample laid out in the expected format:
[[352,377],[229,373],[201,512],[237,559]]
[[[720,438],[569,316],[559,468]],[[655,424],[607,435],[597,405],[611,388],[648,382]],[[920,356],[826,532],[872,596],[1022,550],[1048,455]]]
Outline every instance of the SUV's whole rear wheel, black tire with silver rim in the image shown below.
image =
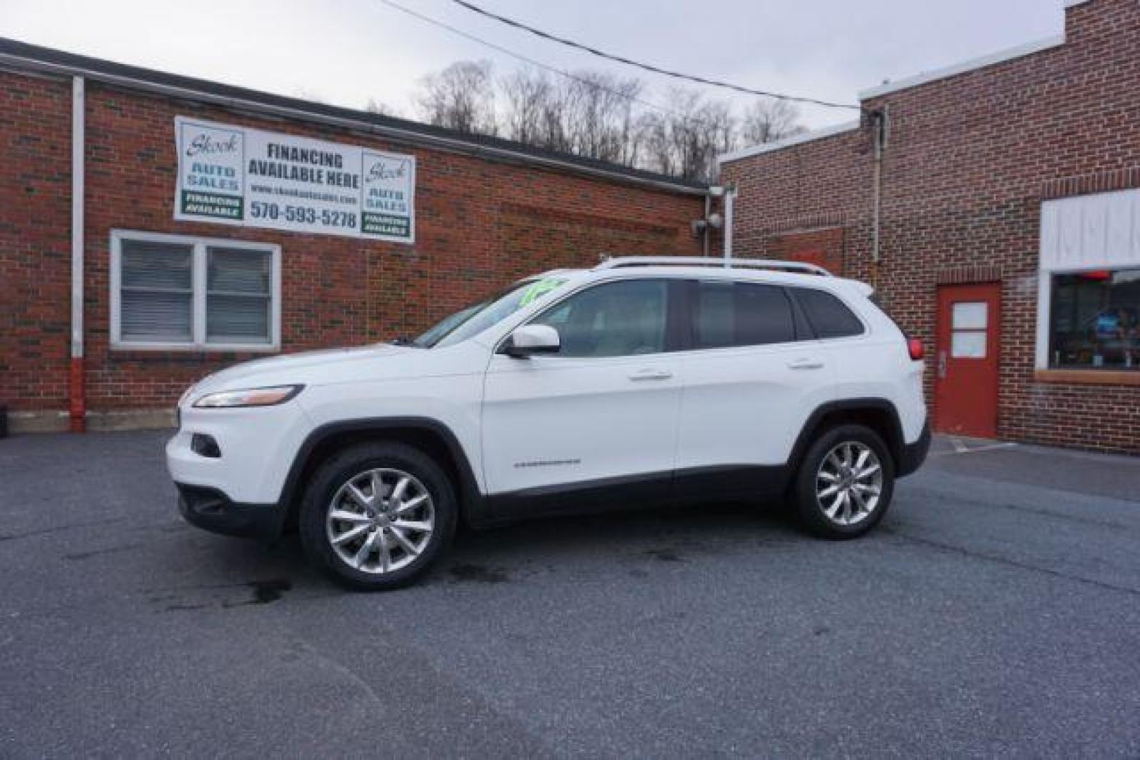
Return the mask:
[[895,493],[895,463],[870,427],[839,425],[804,455],[792,485],[800,524],[829,539],[863,536],[882,520]]

